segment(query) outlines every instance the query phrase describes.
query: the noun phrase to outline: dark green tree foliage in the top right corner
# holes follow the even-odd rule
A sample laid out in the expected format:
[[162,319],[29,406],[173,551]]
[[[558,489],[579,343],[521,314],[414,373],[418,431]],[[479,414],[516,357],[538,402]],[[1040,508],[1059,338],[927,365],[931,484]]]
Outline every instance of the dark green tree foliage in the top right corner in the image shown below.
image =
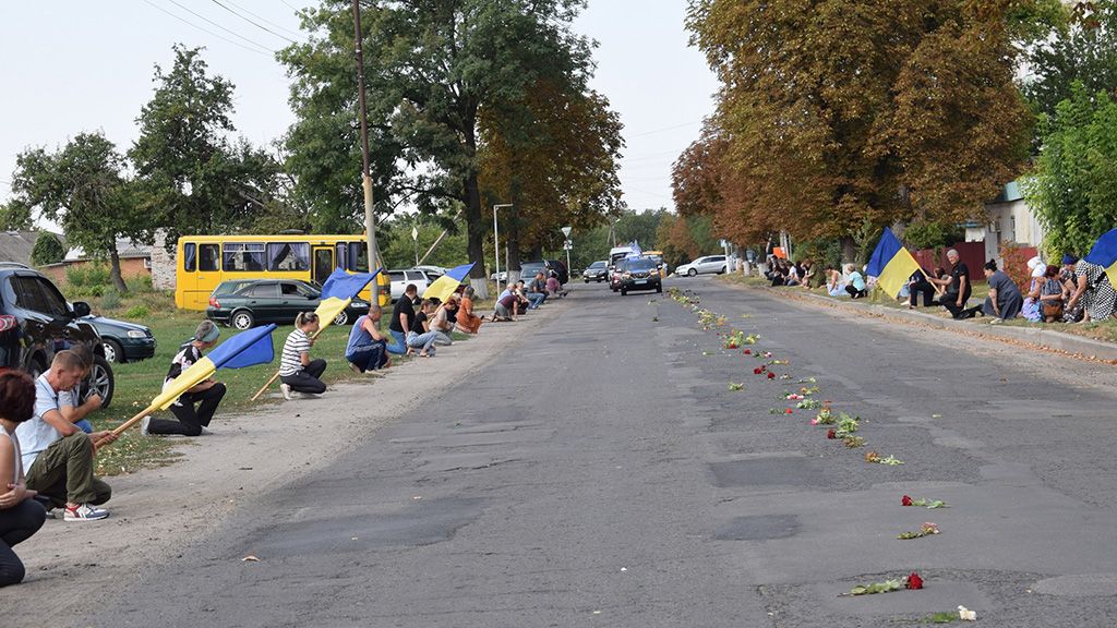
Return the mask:
[[[1089,4],[1089,6],[1087,6]],[[1089,94],[1117,89],[1117,1],[1076,6],[1027,54],[1021,89],[1038,114],[1054,115],[1075,82]]]

